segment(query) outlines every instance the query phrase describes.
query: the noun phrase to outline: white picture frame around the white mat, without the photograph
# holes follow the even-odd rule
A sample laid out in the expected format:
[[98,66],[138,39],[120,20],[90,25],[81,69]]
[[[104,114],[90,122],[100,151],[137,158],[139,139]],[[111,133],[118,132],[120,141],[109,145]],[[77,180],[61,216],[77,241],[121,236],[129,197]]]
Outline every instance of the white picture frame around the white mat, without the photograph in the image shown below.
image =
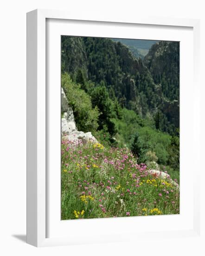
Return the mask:
[[[90,243],[90,238],[93,242],[112,242],[121,241],[123,234],[115,234],[116,236],[107,236],[103,239],[96,234],[93,234],[89,239],[78,239],[76,236],[52,236],[48,237],[47,228],[48,225],[48,207],[47,207],[47,195],[49,189],[47,189],[47,168],[46,168],[46,157],[47,148],[46,141],[48,140],[47,135],[47,109],[46,105],[46,20],[78,20],[82,22],[105,22],[106,26],[113,26],[113,24],[126,24],[126,26],[132,26],[133,24],[141,24],[144,26],[160,26],[160,27],[180,27],[191,28],[193,30],[193,79],[194,79],[194,110],[193,110],[193,146],[196,146],[195,159],[199,159],[199,20],[189,19],[169,19],[169,18],[141,18],[141,17],[130,17],[129,20],[123,20],[123,18],[111,18],[111,17],[100,17],[96,18],[84,16],[76,17],[75,15],[54,10],[34,10],[27,13],[27,243],[37,247],[42,246],[53,246],[53,245],[70,245],[78,243]],[[110,25],[109,25],[110,24]],[[97,25],[96,25],[97,26]],[[156,38],[155,38],[156,39]],[[183,95],[182,95],[183,96]],[[180,95],[181,97],[181,95]],[[167,235],[170,237],[183,237],[183,236],[198,236],[200,232],[200,211],[199,211],[199,173],[193,177],[193,212],[192,220],[193,227],[189,230],[179,229],[170,231],[159,231],[158,236]],[[60,200],[60,199],[59,199]],[[161,216],[164,217],[164,216]],[[135,218],[135,217],[134,217]],[[129,224],[134,222],[134,218],[129,219]],[[152,221],[152,219],[150,219]],[[86,220],[85,220],[86,221]],[[92,221],[92,220],[91,220]],[[115,220],[114,220],[115,221]],[[112,219],[107,220],[110,224]],[[77,222],[76,222],[77,223]],[[78,228],[81,224],[78,222]],[[116,222],[117,223],[117,222]],[[122,223],[121,225],[127,225],[128,222]],[[95,225],[95,222],[90,222],[90,225]],[[75,223],[72,223],[72,227]],[[141,237],[146,235],[153,236],[153,232],[147,231],[141,232]],[[135,234],[130,232],[132,234]],[[135,234],[138,236],[139,234]]]

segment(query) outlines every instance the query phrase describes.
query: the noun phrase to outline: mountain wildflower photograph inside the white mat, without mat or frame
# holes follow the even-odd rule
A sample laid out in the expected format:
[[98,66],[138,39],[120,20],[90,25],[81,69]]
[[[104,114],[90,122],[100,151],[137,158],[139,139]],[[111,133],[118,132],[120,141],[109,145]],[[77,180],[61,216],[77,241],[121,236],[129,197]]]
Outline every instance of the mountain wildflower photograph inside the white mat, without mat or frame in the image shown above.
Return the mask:
[[61,35],[61,220],[180,214],[179,44]]

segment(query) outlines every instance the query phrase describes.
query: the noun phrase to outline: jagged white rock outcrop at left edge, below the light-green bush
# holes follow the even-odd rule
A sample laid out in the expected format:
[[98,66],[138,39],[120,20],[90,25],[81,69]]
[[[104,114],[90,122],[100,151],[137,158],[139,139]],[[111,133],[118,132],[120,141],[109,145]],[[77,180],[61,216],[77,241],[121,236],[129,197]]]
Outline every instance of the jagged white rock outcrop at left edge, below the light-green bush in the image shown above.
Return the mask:
[[73,110],[69,106],[63,88],[61,88],[61,110],[64,112],[63,117],[61,118],[61,135],[63,140],[82,140],[84,143],[87,141],[94,143],[97,142],[96,138],[91,134],[91,132],[84,133],[77,130]]

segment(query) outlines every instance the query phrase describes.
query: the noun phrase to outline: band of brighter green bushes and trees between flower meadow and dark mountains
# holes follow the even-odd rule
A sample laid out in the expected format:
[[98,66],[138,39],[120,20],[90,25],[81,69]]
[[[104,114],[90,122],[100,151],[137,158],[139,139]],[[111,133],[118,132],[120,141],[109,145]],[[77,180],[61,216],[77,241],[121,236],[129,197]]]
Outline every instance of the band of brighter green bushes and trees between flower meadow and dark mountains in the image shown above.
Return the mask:
[[[179,138],[155,128],[153,118],[121,108],[109,98],[105,87],[93,86],[86,93],[69,74],[62,75],[62,87],[73,109],[78,130],[91,131],[103,145],[135,149],[138,162],[176,170],[179,179]],[[135,139],[138,137],[137,148]],[[150,165],[150,167],[152,167]],[[153,166],[155,167],[155,166]]]

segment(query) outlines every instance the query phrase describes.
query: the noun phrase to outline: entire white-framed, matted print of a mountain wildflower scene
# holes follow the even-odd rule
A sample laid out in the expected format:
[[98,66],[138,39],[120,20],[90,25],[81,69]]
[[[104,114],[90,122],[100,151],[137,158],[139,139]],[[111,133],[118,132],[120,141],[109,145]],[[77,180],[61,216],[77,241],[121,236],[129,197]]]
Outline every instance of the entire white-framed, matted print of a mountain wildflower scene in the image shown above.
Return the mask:
[[199,233],[198,37],[198,20],[27,13],[27,243]]

